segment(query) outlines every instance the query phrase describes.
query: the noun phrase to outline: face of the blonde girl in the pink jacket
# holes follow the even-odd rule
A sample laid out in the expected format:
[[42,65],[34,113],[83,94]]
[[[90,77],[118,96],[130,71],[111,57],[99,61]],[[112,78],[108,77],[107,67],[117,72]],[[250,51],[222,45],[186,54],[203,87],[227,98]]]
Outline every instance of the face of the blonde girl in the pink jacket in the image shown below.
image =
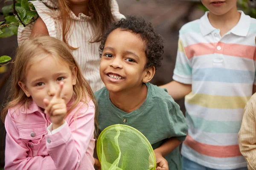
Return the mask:
[[44,108],[44,99],[51,100],[59,88],[59,83],[64,82],[61,97],[66,104],[73,95],[73,85],[76,85],[77,68],[70,70],[66,62],[57,57],[47,56],[33,62],[26,70],[25,82],[19,82],[26,96]]

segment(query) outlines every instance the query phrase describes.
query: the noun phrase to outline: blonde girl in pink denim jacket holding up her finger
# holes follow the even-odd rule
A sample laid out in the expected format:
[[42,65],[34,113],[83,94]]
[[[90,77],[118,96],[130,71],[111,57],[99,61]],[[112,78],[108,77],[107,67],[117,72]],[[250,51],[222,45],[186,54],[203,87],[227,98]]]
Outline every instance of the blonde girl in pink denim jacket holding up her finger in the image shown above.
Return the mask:
[[96,100],[64,42],[23,42],[11,90],[1,115],[5,170],[94,170]]

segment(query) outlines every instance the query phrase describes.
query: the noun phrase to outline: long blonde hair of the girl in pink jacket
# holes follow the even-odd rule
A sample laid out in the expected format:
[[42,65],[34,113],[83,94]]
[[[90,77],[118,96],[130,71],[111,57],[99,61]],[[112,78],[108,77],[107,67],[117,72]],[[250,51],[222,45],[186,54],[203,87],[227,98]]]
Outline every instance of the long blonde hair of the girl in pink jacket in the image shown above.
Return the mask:
[[98,105],[90,85],[83,77],[67,44],[49,36],[26,40],[17,49],[12,71],[11,94],[8,99],[9,102],[7,102],[6,107],[4,107],[1,112],[2,121],[4,122],[9,108],[14,107],[15,105],[22,105],[27,109],[29,103],[32,102],[32,97],[27,97],[25,95],[24,91],[18,85],[18,81],[26,81],[26,71],[28,66],[39,56],[44,56],[41,54],[46,54],[45,56],[51,55],[52,57],[61,59],[69,65],[70,69],[77,67],[76,85],[73,85],[73,96],[71,99],[72,105],[67,111],[67,114],[69,114],[79,102],[87,104],[88,99],[92,99],[96,109],[94,120],[97,127]]

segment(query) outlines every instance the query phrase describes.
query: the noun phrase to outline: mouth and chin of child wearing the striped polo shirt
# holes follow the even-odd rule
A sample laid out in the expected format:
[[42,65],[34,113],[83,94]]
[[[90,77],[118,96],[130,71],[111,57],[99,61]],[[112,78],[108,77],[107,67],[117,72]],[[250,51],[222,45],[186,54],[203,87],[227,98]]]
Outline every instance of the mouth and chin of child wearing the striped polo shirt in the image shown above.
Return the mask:
[[224,15],[232,9],[237,10],[237,0],[201,0],[201,2],[215,15]]

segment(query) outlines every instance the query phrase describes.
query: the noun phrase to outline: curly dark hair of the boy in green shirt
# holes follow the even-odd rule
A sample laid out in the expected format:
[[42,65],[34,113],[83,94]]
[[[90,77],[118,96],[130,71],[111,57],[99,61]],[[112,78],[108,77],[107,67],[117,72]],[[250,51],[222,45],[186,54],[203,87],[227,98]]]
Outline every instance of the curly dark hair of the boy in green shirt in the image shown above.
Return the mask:
[[101,57],[108,35],[117,28],[140,35],[145,43],[145,54],[148,58],[145,68],[158,68],[162,65],[163,37],[160,36],[160,34],[157,34],[150,22],[145,21],[142,17],[136,16],[126,16],[126,18],[122,18],[111,24],[107,33],[102,37],[99,46],[99,54]]

